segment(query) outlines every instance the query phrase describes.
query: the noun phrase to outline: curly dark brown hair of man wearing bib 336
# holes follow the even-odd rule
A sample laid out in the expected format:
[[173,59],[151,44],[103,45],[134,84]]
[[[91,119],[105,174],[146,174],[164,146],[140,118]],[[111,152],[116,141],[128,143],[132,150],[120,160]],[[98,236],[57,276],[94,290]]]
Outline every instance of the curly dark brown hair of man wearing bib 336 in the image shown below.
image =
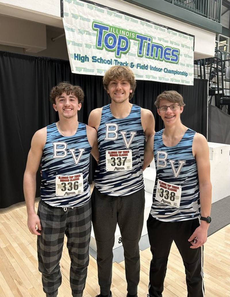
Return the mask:
[[72,94],[77,97],[78,103],[83,103],[84,101],[84,92],[80,86],[73,86],[67,81],[58,83],[57,86],[53,87],[50,91],[50,101],[53,104],[56,104],[56,97],[61,96],[62,93],[66,95]]

